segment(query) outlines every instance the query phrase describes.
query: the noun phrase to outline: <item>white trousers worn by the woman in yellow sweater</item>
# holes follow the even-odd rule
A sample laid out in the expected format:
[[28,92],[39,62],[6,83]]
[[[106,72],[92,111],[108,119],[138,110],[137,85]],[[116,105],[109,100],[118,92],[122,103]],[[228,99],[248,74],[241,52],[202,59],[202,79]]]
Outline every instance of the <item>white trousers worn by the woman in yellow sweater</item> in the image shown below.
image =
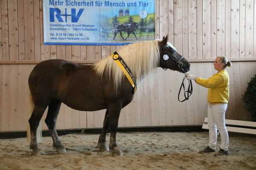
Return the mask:
[[227,103],[211,105],[208,103],[208,126],[209,126],[209,144],[208,146],[215,150],[217,143],[217,129],[221,135],[221,146],[223,150],[228,150],[228,133],[225,125],[225,112]]

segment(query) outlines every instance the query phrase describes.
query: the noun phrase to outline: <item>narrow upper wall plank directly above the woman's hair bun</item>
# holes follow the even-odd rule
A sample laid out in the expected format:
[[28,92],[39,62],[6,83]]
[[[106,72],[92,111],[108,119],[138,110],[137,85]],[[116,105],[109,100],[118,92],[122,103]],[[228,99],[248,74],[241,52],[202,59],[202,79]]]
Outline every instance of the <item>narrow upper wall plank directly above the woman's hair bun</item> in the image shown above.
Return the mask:
[[225,1],[225,56],[231,57],[231,0]]

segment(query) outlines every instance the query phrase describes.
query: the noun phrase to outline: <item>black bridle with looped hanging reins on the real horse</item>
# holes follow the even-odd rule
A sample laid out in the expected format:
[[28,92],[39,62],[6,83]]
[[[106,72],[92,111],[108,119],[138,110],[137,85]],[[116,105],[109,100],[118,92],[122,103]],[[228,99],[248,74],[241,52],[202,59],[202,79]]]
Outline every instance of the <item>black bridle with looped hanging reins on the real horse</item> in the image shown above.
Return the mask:
[[[166,45],[164,48],[162,48],[164,55],[168,55],[168,54],[166,54],[166,50],[165,50],[165,49],[167,48],[167,46],[169,46],[169,45]],[[168,55],[168,56],[169,56],[169,55]],[[182,67],[183,67],[182,62],[180,62],[181,59],[183,59],[183,58],[184,58],[184,56],[181,56],[180,59],[176,59],[175,57],[171,56],[171,59],[176,62],[176,64],[178,65],[178,67],[179,67],[179,68],[183,71],[183,73],[185,74],[185,77],[183,77],[182,83],[181,83],[181,85],[180,85],[180,90],[179,90],[179,94],[178,94],[178,101],[179,101],[179,102],[184,102],[185,100],[188,100],[188,99],[189,99],[189,96],[191,96],[191,94],[192,94],[192,92],[193,92],[193,86],[192,86],[192,81],[191,81],[191,80],[189,80],[188,90],[187,90],[187,91],[185,90],[184,80],[186,79],[186,72],[185,72],[184,69],[182,68]],[[167,61],[166,61],[166,62],[167,62]],[[163,68],[163,70],[166,71],[167,68]],[[183,100],[180,101],[180,92],[181,92],[181,88],[183,88],[185,99],[183,99]]]

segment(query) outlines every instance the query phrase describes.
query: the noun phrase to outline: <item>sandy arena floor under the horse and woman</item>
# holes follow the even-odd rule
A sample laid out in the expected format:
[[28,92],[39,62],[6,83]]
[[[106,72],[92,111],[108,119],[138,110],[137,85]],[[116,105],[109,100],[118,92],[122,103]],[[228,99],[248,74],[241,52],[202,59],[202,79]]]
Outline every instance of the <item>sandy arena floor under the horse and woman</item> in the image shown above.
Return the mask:
[[1,139],[0,170],[256,170],[253,135],[230,133],[230,155],[217,157],[198,153],[207,145],[208,132],[117,133],[124,156],[99,152],[99,134],[76,133],[60,138],[67,153],[57,154],[51,137],[43,137],[39,143],[41,156],[30,156],[26,138]]

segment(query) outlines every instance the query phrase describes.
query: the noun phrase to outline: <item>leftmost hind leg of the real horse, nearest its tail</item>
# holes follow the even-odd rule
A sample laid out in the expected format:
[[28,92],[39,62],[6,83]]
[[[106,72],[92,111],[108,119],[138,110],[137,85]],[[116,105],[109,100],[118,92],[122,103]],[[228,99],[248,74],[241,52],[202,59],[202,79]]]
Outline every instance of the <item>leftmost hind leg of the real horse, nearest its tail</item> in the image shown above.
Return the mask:
[[36,130],[38,128],[39,122],[44,114],[44,111],[47,106],[34,106],[34,110],[32,112],[31,117],[29,118],[29,126],[30,126],[30,149],[32,149],[32,156],[40,155],[38,150],[38,143],[36,139]]

